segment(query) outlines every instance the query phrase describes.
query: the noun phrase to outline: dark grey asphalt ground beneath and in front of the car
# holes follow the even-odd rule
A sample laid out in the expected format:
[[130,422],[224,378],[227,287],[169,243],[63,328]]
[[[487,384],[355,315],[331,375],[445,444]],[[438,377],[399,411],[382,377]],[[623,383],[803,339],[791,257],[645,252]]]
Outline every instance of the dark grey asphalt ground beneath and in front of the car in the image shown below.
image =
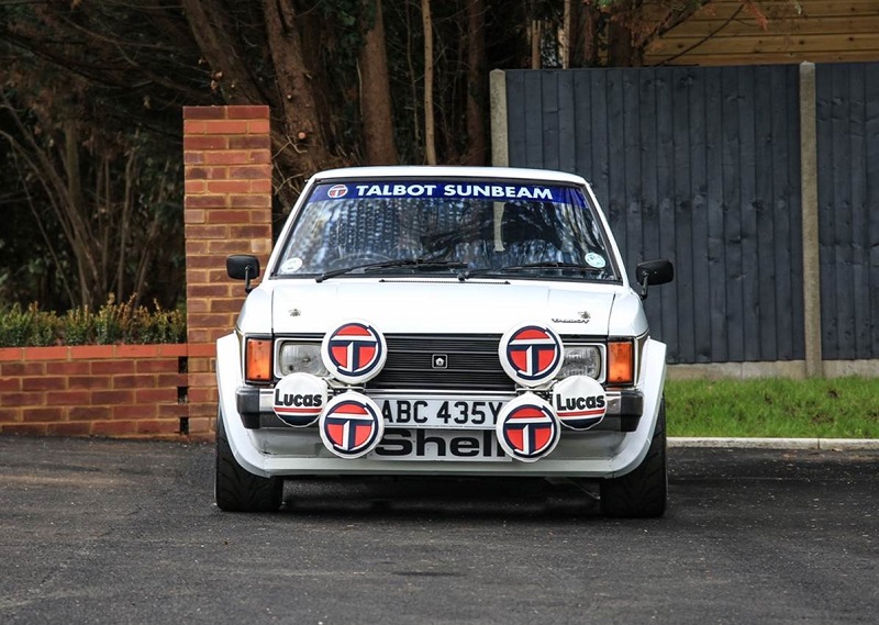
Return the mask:
[[0,437],[0,623],[879,622],[879,453],[671,449],[663,520],[543,482],[288,484],[210,446]]

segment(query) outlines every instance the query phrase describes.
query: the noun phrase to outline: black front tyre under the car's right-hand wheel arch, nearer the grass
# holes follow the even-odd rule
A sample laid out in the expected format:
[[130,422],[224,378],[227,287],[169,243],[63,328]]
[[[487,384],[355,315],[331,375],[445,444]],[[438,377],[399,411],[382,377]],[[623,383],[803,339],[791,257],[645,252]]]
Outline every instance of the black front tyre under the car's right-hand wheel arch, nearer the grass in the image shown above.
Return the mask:
[[627,518],[657,517],[665,514],[667,499],[666,404],[663,400],[647,456],[631,473],[601,482],[601,512]]

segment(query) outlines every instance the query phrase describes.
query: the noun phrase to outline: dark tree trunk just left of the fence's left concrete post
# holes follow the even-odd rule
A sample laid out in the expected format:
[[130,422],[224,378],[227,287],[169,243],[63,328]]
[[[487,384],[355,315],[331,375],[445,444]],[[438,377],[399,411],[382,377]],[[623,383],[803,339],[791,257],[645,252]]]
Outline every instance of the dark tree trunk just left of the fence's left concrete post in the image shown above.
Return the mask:
[[486,164],[486,31],[483,0],[467,3],[467,152],[465,165]]

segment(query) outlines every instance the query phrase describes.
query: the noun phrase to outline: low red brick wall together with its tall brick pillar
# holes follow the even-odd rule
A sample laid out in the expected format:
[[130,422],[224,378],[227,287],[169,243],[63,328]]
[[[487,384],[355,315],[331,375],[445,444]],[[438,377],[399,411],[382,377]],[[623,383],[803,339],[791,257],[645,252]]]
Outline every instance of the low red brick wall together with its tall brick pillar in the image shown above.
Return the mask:
[[0,434],[208,439],[216,338],[244,284],[230,254],[271,249],[268,107],[183,108],[186,345],[0,349]]

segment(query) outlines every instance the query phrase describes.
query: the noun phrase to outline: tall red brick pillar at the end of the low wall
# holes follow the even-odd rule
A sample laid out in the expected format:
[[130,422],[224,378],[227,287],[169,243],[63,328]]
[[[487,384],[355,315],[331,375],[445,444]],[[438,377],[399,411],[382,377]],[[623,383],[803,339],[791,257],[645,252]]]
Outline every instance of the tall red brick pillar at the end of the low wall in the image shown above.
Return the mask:
[[243,282],[226,256],[271,249],[268,107],[183,107],[189,433],[205,437],[216,416],[214,342],[235,326]]

